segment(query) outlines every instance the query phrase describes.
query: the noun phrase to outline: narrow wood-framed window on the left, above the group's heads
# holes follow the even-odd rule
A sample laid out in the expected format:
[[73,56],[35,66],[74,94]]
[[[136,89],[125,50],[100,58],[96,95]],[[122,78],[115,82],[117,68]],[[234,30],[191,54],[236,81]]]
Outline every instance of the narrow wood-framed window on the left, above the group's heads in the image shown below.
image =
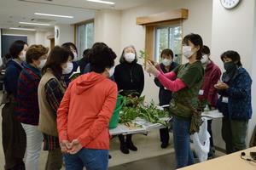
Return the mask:
[[77,48],[79,56],[83,55],[84,49],[91,48],[94,42],[94,23],[89,22],[77,26]]

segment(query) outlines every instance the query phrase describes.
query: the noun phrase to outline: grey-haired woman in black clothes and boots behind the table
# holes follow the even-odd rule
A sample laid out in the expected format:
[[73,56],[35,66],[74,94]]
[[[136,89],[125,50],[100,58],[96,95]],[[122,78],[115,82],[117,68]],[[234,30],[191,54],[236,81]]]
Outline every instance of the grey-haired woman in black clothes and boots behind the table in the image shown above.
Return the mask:
[[[144,73],[143,66],[137,64],[137,52],[134,46],[124,48],[119,62],[120,64],[115,67],[113,77],[119,90],[123,90],[120,94],[128,96],[135,92],[136,95],[133,97],[139,97],[143,93]],[[131,134],[126,135],[126,139],[120,134],[119,141],[120,150],[124,154],[129,154],[129,150],[137,151],[137,147],[131,140]]]

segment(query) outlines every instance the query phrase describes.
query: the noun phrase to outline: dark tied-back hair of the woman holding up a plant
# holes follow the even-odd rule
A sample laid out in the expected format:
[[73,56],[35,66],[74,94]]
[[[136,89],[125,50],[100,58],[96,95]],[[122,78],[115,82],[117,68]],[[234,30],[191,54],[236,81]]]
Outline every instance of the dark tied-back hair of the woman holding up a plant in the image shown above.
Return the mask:
[[196,59],[201,59],[201,51],[203,47],[203,41],[201,36],[199,34],[191,33],[183,38],[183,44],[188,44],[189,41],[192,42],[195,46],[199,46],[199,50],[196,53]]

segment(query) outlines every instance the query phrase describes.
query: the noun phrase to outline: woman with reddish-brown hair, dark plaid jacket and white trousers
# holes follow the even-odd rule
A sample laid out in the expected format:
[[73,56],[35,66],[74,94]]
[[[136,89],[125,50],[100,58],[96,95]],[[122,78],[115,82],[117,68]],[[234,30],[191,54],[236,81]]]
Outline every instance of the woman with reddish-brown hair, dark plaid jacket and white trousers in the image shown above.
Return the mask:
[[32,45],[26,52],[26,63],[20,72],[16,115],[26,133],[26,169],[38,169],[43,134],[38,130],[38,84],[49,48]]

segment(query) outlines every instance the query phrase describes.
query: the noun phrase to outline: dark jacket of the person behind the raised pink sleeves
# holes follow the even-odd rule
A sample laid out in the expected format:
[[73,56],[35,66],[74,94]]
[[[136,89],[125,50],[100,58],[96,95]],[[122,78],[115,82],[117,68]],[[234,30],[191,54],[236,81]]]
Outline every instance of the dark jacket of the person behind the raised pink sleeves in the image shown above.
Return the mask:
[[[170,67],[170,71],[172,71],[173,69],[175,69],[177,67],[177,63],[172,62],[171,67]],[[166,71],[165,65],[160,64],[160,68],[164,73],[170,72],[170,71]],[[170,101],[172,99],[172,92],[170,90],[165,89],[165,87],[160,83],[160,81],[158,80],[158,78],[154,78],[154,83],[156,84],[156,86],[158,86],[160,88],[159,90],[159,105],[169,105]]]

